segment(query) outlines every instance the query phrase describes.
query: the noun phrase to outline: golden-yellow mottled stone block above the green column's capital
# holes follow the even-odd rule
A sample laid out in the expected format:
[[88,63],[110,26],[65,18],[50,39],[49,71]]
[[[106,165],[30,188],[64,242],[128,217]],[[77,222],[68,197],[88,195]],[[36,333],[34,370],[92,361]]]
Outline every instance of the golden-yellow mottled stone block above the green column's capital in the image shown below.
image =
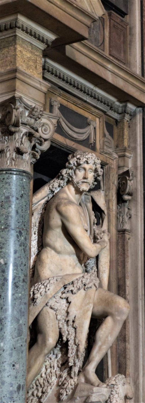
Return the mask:
[[0,70],[20,67],[42,78],[42,50],[19,36],[0,39]]

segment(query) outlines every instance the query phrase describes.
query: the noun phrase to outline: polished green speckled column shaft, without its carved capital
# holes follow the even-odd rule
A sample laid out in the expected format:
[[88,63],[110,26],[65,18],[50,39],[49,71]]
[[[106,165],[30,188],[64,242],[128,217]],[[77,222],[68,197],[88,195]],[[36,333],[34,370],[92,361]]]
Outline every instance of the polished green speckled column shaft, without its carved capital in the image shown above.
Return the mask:
[[25,403],[29,182],[25,172],[0,170],[0,403]]

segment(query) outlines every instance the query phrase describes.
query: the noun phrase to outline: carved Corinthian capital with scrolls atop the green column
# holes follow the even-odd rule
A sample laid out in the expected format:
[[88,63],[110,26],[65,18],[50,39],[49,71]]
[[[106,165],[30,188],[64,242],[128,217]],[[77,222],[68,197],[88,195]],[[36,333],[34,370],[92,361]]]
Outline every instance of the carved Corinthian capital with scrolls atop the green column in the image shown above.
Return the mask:
[[13,98],[0,108],[0,168],[30,172],[31,164],[50,147],[58,116]]

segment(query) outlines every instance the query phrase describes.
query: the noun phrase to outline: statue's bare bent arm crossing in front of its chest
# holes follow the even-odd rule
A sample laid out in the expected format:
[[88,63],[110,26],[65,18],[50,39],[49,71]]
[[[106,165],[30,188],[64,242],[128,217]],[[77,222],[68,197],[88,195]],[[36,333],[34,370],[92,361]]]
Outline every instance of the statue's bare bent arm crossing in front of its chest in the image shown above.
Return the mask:
[[91,243],[89,235],[83,228],[77,206],[70,203],[61,203],[56,206],[56,209],[66,230],[88,258],[94,258],[106,247],[108,243],[107,234],[104,234],[99,242]]

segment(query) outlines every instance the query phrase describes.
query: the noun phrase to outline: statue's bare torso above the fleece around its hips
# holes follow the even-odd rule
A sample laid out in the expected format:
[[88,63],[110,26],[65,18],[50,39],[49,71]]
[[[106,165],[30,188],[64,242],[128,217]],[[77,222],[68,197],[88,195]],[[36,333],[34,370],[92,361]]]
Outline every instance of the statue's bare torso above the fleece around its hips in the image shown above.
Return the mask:
[[[64,203],[68,208],[73,202],[67,199],[63,190],[48,202],[44,216],[43,249],[35,264],[34,283],[52,276],[83,272],[82,264],[86,256],[69,235],[57,209],[58,204]],[[83,209],[75,203],[73,208],[74,205],[87,231],[88,223]]]

